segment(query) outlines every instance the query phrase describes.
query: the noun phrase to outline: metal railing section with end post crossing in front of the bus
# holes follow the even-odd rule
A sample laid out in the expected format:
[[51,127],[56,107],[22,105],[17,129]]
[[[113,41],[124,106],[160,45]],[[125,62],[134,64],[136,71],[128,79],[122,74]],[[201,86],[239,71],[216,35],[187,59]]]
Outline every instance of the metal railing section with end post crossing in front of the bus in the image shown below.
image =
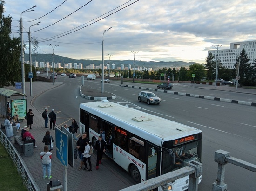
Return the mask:
[[168,172],[159,177],[149,179],[137,185],[122,189],[121,191],[149,191],[159,186],[174,182],[175,180],[189,175],[188,191],[197,191],[199,177],[202,175],[202,163],[192,160],[187,163],[188,166],[173,172]]

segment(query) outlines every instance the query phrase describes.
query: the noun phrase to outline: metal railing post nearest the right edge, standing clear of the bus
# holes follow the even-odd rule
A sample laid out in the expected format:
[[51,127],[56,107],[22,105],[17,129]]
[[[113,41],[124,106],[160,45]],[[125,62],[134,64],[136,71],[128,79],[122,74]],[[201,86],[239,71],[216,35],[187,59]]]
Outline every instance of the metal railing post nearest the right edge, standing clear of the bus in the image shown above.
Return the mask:
[[212,184],[212,191],[225,191],[228,185],[224,183],[225,165],[228,163],[225,158],[229,156],[229,152],[217,150],[214,154],[214,161],[218,163],[218,173],[216,182]]

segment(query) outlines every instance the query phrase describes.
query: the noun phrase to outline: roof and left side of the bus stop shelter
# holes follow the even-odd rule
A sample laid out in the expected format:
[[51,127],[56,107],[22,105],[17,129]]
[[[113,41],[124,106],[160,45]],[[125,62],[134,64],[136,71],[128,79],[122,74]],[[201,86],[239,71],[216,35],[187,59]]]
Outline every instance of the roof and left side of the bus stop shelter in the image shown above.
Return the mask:
[[7,116],[7,98],[11,98],[11,96],[26,96],[25,94],[13,91],[6,88],[0,88],[0,115],[1,118],[5,118]]

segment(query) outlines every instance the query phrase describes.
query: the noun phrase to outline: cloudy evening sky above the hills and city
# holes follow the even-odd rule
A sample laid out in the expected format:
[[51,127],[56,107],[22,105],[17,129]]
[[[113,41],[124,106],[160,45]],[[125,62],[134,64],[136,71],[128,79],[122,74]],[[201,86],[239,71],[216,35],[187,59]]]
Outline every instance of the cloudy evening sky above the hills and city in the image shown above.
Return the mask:
[[54,54],[73,59],[102,60],[104,40],[105,60],[205,63],[213,45],[256,40],[255,0],[6,0],[11,37],[34,5],[22,13],[24,44],[30,29],[37,53],[59,45]]

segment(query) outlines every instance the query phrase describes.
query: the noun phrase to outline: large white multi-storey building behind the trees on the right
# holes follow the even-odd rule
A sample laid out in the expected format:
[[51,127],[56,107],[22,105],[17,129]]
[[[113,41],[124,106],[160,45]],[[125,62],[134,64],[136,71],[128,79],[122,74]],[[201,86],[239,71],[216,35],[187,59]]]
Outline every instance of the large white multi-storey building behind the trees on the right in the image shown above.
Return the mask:
[[221,49],[219,47],[217,50],[210,50],[209,53],[212,53],[214,56],[214,61],[217,59],[222,66],[228,69],[234,69],[234,65],[236,64],[236,56],[239,57],[240,52],[244,49],[250,58],[250,63],[253,63],[253,59],[256,58],[256,40],[253,41],[245,41],[245,42],[235,42],[230,43],[229,49]]

